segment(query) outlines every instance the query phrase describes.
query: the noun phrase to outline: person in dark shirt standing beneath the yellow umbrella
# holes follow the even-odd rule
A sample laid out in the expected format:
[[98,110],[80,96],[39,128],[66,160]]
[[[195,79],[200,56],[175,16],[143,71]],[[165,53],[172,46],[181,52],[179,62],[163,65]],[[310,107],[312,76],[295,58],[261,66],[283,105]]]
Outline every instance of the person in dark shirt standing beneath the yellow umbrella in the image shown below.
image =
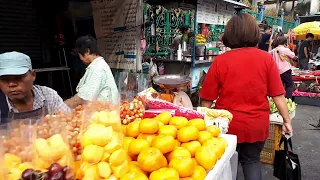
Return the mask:
[[304,40],[299,47],[299,68],[303,70],[308,70],[310,52],[311,52],[311,42],[314,39],[312,33],[306,35],[306,40]]

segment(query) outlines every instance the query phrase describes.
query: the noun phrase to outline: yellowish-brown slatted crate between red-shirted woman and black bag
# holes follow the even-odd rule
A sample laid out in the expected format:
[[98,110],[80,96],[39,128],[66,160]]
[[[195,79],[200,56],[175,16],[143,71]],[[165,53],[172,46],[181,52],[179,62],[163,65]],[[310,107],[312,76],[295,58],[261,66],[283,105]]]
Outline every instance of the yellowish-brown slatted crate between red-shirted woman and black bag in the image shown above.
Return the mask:
[[280,138],[282,136],[282,125],[280,124],[270,124],[269,127],[269,138],[264,144],[264,148],[261,152],[261,162],[266,164],[273,164],[274,151],[283,149],[283,144],[279,147]]

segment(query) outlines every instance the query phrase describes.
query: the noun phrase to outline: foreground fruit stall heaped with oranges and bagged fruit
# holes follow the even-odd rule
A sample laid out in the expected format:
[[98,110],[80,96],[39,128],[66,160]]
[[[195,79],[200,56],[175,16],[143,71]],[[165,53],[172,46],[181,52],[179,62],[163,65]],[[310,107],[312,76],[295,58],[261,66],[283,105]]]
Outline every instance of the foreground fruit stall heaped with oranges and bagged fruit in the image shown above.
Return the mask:
[[0,179],[231,180],[236,136],[212,122],[228,125],[232,114],[186,109],[152,92],[2,125]]

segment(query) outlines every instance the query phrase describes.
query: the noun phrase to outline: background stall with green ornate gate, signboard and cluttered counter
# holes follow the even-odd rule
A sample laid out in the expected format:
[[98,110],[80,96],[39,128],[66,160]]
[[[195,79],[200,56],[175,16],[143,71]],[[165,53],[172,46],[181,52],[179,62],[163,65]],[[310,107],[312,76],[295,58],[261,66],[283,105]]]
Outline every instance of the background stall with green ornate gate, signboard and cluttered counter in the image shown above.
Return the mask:
[[[189,76],[191,82],[186,92],[196,93],[201,74],[208,71],[217,55],[227,51],[221,43],[226,23],[236,10],[247,6],[229,0],[185,3],[150,0],[146,3],[145,21],[153,22],[154,28],[146,27],[145,30],[145,64],[152,61],[152,67],[156,64],[160,75]],[[183,33],[181,27],[189,29]]]

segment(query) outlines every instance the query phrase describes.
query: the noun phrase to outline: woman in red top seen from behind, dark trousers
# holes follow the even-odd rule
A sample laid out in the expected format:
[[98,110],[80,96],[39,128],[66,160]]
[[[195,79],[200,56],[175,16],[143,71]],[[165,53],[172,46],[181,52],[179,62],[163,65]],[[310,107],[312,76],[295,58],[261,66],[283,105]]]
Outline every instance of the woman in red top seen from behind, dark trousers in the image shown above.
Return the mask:
[[273,98],[284,119],[283,133],[292,135],[291,119],[277,65],[268,52],[259,50],[260,29],[248,14],[228,22],[222,41],[232,50],[215,58],[200,97],[202,106],[233,114],[229,134],[237,135],[239,161],[246,180],[261,180],[260,153],[269,135],[269,102]]

